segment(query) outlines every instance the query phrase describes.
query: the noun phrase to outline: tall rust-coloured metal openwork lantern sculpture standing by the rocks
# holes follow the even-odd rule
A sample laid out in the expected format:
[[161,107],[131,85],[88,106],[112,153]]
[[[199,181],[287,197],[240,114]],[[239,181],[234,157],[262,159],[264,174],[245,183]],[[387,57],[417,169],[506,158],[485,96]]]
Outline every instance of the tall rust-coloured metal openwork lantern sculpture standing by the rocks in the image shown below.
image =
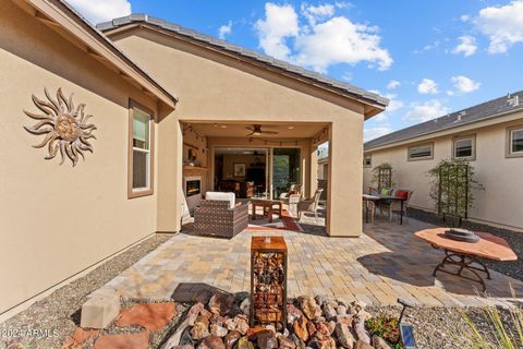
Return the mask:
[[251,326],[287,323],[287,244],[282,237],[253,237],[251,243]]

